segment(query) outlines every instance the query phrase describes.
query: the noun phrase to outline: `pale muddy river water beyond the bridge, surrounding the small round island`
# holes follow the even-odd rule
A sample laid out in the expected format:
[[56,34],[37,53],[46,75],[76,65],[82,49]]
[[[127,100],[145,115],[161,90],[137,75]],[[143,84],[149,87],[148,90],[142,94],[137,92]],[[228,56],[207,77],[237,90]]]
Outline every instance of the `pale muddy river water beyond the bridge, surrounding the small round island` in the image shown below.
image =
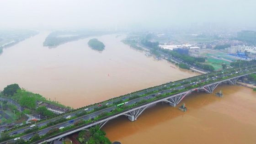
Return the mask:
[[[13,83],[74,108],[132,91],[197,75],[156,61],[120,42],[125,36],[104,35],[43,47],[49,32],[41,32],[0,55],[0,90]],[[106,47],[92,50],[87,42],[98,38]]]

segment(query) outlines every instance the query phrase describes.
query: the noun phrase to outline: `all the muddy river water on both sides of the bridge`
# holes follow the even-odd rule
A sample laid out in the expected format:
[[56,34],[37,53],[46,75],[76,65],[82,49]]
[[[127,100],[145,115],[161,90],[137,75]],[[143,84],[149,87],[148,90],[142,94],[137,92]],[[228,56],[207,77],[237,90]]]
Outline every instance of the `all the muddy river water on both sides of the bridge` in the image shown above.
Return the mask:
[[[17,83],[64,105],[82,107],[153,85],[197,75],[173,68],[165,60],[146,57],[120,42],[124,36],[96,37],[106,48],[88,47],[91,38],[43,47],[41,32],[0,55],[0,90]],[[221,85],[223,98],[203,92],[184,98],[187,112],[157,104],[135,122],[118,117],[103,129],[122,144],[255,144],[256,92],[242,86]]]

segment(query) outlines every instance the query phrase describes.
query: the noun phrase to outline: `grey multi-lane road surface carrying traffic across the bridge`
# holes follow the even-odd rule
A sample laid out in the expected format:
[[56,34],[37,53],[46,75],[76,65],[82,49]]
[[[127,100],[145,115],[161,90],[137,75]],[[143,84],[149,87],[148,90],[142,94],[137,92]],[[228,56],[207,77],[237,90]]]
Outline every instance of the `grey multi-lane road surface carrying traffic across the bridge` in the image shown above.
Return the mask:
[[[243,70],[236,71],[235,73],[242,73],[242,72],[246,72],[246,71],[247,71],[247,69],[243,69]],[[214,74],[212,74],[212,75],[214,75]],[[217,73],[215,75],[217,75]],[[112,105],[112,103],[115,103],[115,102],[120,101],[120,100],[127,101],[128,103],[126,103],[125,105],[134,105],[135,103],[137,103],[139,101],[151,99],[151,98],[153,98],[153,97],[155,97],[157,95],[160,95],[160,94],[170,93],[173,90],[185,89],[187,86],[190,86],[190,85],[196,85],[198,83],[201,83],[201,82],[204,82],[204,81],[207,81],[207,80],[216,80],[216,78],[218,78],[218,77],[224,77],[224,76],[230,76],[230,75],[233,75],[233,74],[228,72],[228,71],[226,71],[224,73],[220,73],[219,75],[211,77],[211,78],[208,78],[208,75],[200,75],[200,76],[188,78],[186,80],[170,82],[170,83],[167,83],[167,84],[164,84],[164,85],[160,85],[160,86],[157,86],[157,87],[154,87],[154,88],[150,88],[148,90],[136,92],[136,93],[133,93],[133,94],[128,95],[128,96],[126,95],[126,96],[118,97],[118,98],[113,99],[113,100],[108,100],[108,101],[105,101],[105,102],[101,103],[102,106],[103,105],[109,105],[109,107],[107,107],[105,109],[102,109],[102,110],[99,110],[99,111],[96,111],[96,112],[92,112],[90,114],[87,114],[87,115],[84,115],[84,116],[81,116],[81,117],[77,117],[77,118],[75,118],[75,119],[73,119],[71,121],[66,121],[66,122],[59,123],[59,124],[56,124],[56,125],[48,127],[48,128],[44,128],[42,130],[38,130],[37,133],[40,136],[42,136],[42,135],[46,134],[51,128],[61,128],[61,127],[66,128],[66,127],[69,127],[70,125],[74,124],[76,121],[79,121],[81,119],[82,120],[89,120],[91,118],[97,117],[102,112],[111,112],[113,109],[115,109],[115,107]],[[206,77],[206,78],[202,79],[202,77]],[[191,82],[192,80],[194,82]],[[183,83],[185,83],[185,84],[183,84]],[[179,84],[181,84],[181,85],[179,85]],[[174,86],[174,85],[179,85],[179,86],[172,87],[172,88],[169,88],[169,89],[165,88],[165,87],[171,87],[171,86]],[[149,95],[145,95],[145,94],[147,94],[149,92],[152,92],[152,91],[155,91],[155,90],[159,90],[159,89],[160,89],[160,91],[158,91],[158,92],[151,93]],[[145,95],[145,96],[128,101],[130,96],[135,96],[135,95]],[[99,106],[95,105],[95,106],[88,107],[88,110],[86,110],[86,111],[90,112],[91,110],[93,110],[96,107],[99,107]],[[36,123],[36,126],[38,128],[40,128],[40,127],[42,127],[42,126],[46,125],[47,123],[52,122],[54,120],[60,119],[62,117],[66,118],[68,116],[74,117],[74,116],[76,116],[76,114],[78,114],[80,112],[83,112],[83,111],[85,111],[85,110],[82,109],[80,111],[75,111],[73,113],[66,114],[65,116],[55,117],[53,119],[46,120],[46,121],[44,121],[42,123],[38,122],[38,123]],[[25,128],[20,128],[20,129],[17,129],[17,130],[13,130],[13,131],[10,132],[10,135],[15,136],[16,134],[23,133],[26,129],[30,129],[30,127],[28,126],[28,127],[25,127]],[[29,133],[29,134],[25,134],[25,135],[21,136],[20,138],[24,139],[24,140],[28,140],[33,135],[34,135],[33,133]],[[9,141],[14,141],[14,140],[11,139]]]

